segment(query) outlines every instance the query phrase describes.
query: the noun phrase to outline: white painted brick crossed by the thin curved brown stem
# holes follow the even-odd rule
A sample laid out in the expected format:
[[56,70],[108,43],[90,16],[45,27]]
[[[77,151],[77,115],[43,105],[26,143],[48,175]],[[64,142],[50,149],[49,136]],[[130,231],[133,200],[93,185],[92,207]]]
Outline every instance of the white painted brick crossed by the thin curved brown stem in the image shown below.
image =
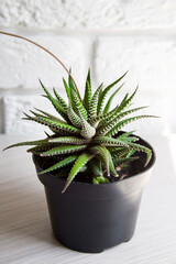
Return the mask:
[[[85,74],[81,41],[59,35],[32,35],[33,41],[53,52],[80,84]],[[37,89],[38,78],[47,87],[62,87],[65,69],[48,54],[31,43],[0,35],[0,88]]]

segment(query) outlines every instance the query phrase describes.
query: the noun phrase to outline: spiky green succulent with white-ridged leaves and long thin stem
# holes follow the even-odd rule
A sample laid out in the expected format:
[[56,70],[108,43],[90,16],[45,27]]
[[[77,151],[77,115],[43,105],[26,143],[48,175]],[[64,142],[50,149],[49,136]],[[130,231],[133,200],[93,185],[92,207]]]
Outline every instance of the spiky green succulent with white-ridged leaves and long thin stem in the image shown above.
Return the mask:
[[[107,184],[111,177],[119,177],[119,167],[138,158],[134,155],[135,152],[146,153],[145,166],[148,164],[152,151],[136,143],[139,139],[133,135],[133,131],[120,133],[127,124],[135,120],[154,117],[148,114],[128,117],[146,108],[139,107],[127,110],[132,105],[138,88],[131,96],[127,94],[113,109],[111,109],[112,100],[123,84],[118,86],[106,101],[109,91],[116,85],[119,85],[127,73],[106,88],[101,84],[92,92],[90,70],[88,70],[85,95],[84,99],[81,99],[70,72],[53,53],[26,37],[1,31],[0,34],[19,37],[38,46],[53,56],[68,73],[68,81],[63,78],[68,102],[59,96],[56,89],[53,89],[54,96],[52,96],[40,80],[45,97],[57,112],[56,116],[40,109],[31,111],[33,116],[24,113],[25,118],[23,119],[48,127],[52,135],[46,133],[47,138],[43,140],[21,142],[7,148],[33,145],[28,152],[34,153],[41,156],[41,158],[53,158],[55,161],[54,165],[44,169],[42,174],[59,169],[58,175],[67,178],[63,193],[78,173],[88,175],[94,184]],[[69,172],[65,169],[69,168],[72,164]]]

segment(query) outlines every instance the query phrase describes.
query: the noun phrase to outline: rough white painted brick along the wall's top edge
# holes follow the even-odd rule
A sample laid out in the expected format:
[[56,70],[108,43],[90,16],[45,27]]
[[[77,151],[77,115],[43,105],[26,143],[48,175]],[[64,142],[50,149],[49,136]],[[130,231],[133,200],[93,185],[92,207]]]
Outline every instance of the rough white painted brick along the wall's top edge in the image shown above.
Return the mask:
[[1,0],[1,26],[44,29],[174,28],[170,0]]

